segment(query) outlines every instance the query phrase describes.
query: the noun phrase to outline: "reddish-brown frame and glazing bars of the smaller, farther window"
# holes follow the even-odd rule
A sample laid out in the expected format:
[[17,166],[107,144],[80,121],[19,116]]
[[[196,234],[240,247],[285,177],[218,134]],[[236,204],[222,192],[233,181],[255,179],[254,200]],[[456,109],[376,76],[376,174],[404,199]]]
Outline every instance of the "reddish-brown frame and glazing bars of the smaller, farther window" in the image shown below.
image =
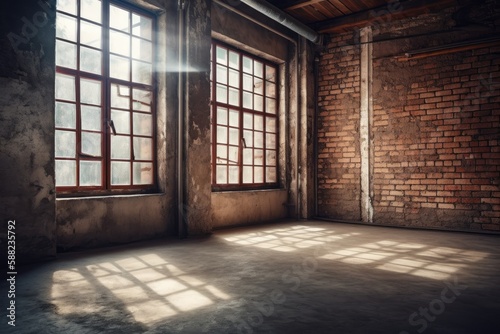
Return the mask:
[[[237,89],[238,89],[239,104],[237,106],[230,104],[229,101],[227,101],[226,103],[222,103],[222,102],[218,102],[216,100],[216,97],[217,97],[217,60],[216,60],[215,53],[216,53],[217,47],[221,47],[223,49],[226,49],[228,55],[229,55],[229,51],[232,51],[232,52],[235,52],[238,54],[239,87],[237,87]],[[279,187],[280,187],[280,159],[279,159],[279,155],[280,155],[280,153],[279,153],[280,152],[280,106],[279,106],[280,96],[279,95],[280,95],[280,68],[281,68],[281,66],[275,62],[272,62],[272,61],[267,60],[265,58],[259,57],[255,54],[249,53],[247,51],[241,50],[237,47],[234,47],[230,44],[224,43],[224,42],[216,40],[216,39],[212,39],[211,50],[212,50],[212,52],[211,52],[211,59],[210,59],[210,61],[211,61],[211,64],[210,64],[210,68],[211,68],[211,75],[210,75],[210,84],[211,84],[211,87],[210,87],[210,89],[211,89],[210,124],[211,124],[211,184],[212,184],[212,191],[220,192],[220,191],[247,191],[247,190],[279,189]],[[244,92],[249,93],[249,91],[244,89],[244,85],[243,85],[243,77],[245,74],[247,74],[243,70],[243,61],[242,61],[243,57],[248,57],[253,62],[257,61],[257,62],[262,63],[262,68],[263,68],[263,70],[262,70],[263,87],[262,87],[262,95],[261,95],[262,100],[263,100],[262,111],[255,110],[254,105],[252,106],[252,108],[243,107],[243,93]],[[266,80],[266,66],[272,67],[274,69],[274,73],[275,73],[274,74],[274,82]],[[226,66],[226,68],[228,71],[231,69],[229,63]],[[229,77],[229,74],[228,74],[228,77]],[[256,77],[255,72],[252,72],[251,77],[252,78]],[[275,93],[274,93],[274,97],[272,97],[272,99],[274,99],[274,102],[275,102],[274,113],[269,113],[266,111],[266,97],[269,97],[266,93],[266,82],[271,82],[274,84],[274,92]],[[227,84],[225,84],[225,86],[227,87],[227,89],[235,88],[234,86],[231,86],[229,84],[229,82],[227,82]],[[252,93],[252,98],[254,97],[255,94],[256,93],[255,93],[255,86],[254,86],[254,92]],[[260,94],[258,94],[258,95],[260,95]],[[252,104],[254,104],[254,103],[255,102],[253,101]],[[238,116],[239,124],[237,127],[238,132],[239,132],[238,161],[237,161],[236,165],[230,165],[229,163],[226,164],[227,167],[229,167],[229,166],[237,166],[238,167],[238,169],[239,169],[239,171],[238,171],[238,183],[229,183],[230,182],[229,181],[229,171],[226,171],[227,183],[224,183],[224,184],[217,183],[218,160],[224,160],[224,159],[218,158],[218,156],[217,156],[217,145],[218,145],[217,127],[219,125],[218,120],[217,120],[218,107],[226,108],[228,110],[228,112],[229,112],[229,110],[238,111],[238,115],[239,115]],[[248,114],[248,113],[252,114],[253,116],[255,116],[255,115],[262,116],[262,118],[263,118],[262,130],[256,130],[254,125],[253,125],[251,130],[244,127],[244,125],[243,125],[244,114]],[[268,130],[266,129],[266,122],[267,122],[266,117],[274,118],[274,122],[275,122],[275,132],[274,133],[268,132]],[[228,129],[228,131],[230,128],[236,128],[236,127],[231,126],[229,124],[229,119],[227,122],[228,123],[225,126]],[[252,124],[254,124],[254,123],[252,122]],[[255,163],[255,156],[253,156],[251,164],[244,163],[243,150],[245,148],[248,148],[248,147],[246,147],[246,145],[248,145],[248,143],[245,143],[244,140],[242,140],[244,131],[251,131],[252,137],[254,137],[254,134],[256,132],[262,133],[262,139],[263,139],[262,148],[257,148],[257,149],[262,150],[262,152],[263,152],[262,165],[258,165]],[[268,133],[274,135],[275,145],[272,148],[269,148],[266,145],[266,134],[268,134]],[[236,147],[236,146],[231,145],[229,143],[229,135],[228,135],[228,142],[222,143],[222,145],[225,145],[228,148],[227,159],[225,159],[225,160],[229,161],[229,159],[230,159],[229,147]],[[250,147],[250,148],[255,149],[254,147]],[[275,152],[275,165],[267,164],[266,150]],[[220,164],[220,165],[223,165],[223,164]],[[243,168],[245,166],[251,167],[254,170],[252,172],[252,176],[254,178],[252,183],[245,183],[243,181]],[[262,180],[263,180],[263,182],[255,182],[255,167],[256,166],[262,167],[262,173],[263,173]],[[266,174],[267,174],[266,168],[274,168],[275,181],[266,182]]]

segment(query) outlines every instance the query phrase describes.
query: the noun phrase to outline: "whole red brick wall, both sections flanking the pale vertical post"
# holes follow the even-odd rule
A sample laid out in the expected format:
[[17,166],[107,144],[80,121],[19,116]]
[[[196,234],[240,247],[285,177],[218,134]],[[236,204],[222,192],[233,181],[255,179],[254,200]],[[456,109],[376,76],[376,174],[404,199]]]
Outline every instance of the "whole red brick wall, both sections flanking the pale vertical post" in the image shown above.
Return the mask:
[[[384,29],[411,34],[415,22]],[[359,46],[339,48],[352,35],[332,39],[320,62],[318,213],[359,221]],[[394,58],[429,44],[373,44],[374,222],[500,231],[500,47]]]

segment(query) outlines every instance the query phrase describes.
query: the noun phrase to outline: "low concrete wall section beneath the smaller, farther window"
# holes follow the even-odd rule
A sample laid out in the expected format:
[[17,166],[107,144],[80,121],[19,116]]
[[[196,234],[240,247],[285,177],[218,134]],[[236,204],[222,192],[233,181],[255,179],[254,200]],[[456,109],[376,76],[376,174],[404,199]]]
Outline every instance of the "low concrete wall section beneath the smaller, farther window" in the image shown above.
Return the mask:
[[213,226],[221,228],[285,218],[287,198],[286,190],[213,193]]

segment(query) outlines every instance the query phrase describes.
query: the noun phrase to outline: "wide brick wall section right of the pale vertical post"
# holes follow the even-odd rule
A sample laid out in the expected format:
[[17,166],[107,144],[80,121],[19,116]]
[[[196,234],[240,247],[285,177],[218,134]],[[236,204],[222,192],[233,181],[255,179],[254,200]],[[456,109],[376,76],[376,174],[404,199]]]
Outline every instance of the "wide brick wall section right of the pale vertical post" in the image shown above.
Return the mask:
[[373,63],[375,221],[500,230],[498,52]]

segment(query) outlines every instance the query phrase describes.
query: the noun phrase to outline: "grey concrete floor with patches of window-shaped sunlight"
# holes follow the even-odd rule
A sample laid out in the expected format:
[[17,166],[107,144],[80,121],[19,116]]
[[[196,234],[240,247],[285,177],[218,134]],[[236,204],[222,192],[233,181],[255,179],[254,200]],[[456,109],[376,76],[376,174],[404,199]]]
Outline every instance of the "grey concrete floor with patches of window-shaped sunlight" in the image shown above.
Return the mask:
[[303,221],[20,268],[0,332],[486,334],[499,315],[499,236]]

